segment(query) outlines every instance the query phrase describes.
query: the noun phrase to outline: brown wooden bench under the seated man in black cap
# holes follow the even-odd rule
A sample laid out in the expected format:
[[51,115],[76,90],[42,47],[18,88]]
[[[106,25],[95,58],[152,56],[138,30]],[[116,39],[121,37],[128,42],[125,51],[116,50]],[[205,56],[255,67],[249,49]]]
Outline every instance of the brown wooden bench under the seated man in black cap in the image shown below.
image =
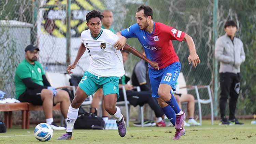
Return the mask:
[[[12,128],[12,112],[22,111],[22,129],[29,129],[30,111],[42,111],[42,106],[34,106],[32,103],[1,103],[0,112],[4,112],[4,123],[6,128]],[[60,103],[53,107],[53,110],[60,110]]]

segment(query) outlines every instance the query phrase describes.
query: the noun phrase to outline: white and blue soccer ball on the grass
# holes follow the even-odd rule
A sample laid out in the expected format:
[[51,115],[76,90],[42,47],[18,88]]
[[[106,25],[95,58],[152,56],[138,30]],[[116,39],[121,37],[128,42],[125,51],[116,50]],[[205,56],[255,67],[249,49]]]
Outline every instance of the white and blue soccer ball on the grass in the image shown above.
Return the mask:
[[49,141],[53,137],[53,128],[46,124],[38,124],[34,129],[35,138],[41,142]]

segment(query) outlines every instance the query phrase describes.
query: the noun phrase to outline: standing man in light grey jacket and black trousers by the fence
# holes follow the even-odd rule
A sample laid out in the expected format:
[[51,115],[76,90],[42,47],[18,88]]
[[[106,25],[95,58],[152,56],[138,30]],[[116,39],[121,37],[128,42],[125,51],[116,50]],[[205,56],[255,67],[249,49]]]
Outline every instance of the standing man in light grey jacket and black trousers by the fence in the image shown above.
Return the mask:
[[[227,21],[224,26],[225,35],[219,37],[215,45],[215,59],[220,62],[219,80],[221,84],[221,97],[219,109],[222,125],[243,125],[235,117],[237,99],[240,90],[240,65],[245,61],[243,42],[235,37],[237,24]],[[226,103],[229,98],[229,121],[225,116]]]

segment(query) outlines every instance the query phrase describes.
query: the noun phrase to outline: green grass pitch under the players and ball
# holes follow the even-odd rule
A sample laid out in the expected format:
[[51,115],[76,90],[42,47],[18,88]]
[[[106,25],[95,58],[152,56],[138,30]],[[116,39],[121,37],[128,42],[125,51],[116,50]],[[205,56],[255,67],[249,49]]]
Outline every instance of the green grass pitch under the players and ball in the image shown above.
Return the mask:
[[[181,140],[171,140],[174,136],[174,127],[133,127],[127,128],[124,138],[118,135],[117,130],[73,130],[73,140],[57,141],[65,131],[54,131],[53,138],[47,144],[247,144],[256,143],[256,125],[250,120],[242,120],[243,126],[219,126],[218,121],[210,125],[210,121],[203,121],[203,126],[185,127],[186,134]],[[130,125],[132,125],[130,123]],[[35,139],[34,126],[29,130],[14,127],[6,133],[0,133],[0,144],[36,144],[43,143]]]

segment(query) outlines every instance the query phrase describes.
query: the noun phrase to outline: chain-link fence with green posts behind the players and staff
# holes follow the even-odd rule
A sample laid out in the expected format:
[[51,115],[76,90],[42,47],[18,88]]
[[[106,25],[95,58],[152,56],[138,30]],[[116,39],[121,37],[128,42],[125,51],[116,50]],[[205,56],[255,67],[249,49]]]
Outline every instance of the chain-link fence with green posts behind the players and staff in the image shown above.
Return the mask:
[[[65,73],[67,65],[67,3],[68,0],[1,0],[0,1],[0,90],[6,97],[14,97],[14,75],[19,62],[24,59],[24,48],[37,44],[40,59],[46,71]],[[213,86],[213,0],[71,0],[70,59],[74,61],[81,44],[80,34],[85,30],[85,15],[93,10],[109,9],[114,14],[113,29],[117,32],[136,23],[135,13],[140,4],[153,8],[153,20],[184,31],[193,37],[200,64],[197,68],[188,65],[189,51],[185,42],[173,42],[179,56],[187,85]],[[237,37],[244,42],[246,62],[241,66],[242,85],[238,101],[239,114],[255,112],[255,46],[256,14],[255,0],[219,1],[217,10],[217,34],[223,35],[224,23],[233,19],[238,23]],[[245,16],[246,15],[246,16]],[[128,44],[141,51],[136,38]],[[68,49],[69,50],[69,49]],[[131,75],[139,59],[132,54],[125,64],[126,73]],[[85,53],[74,73],[82,75],[87,69],[88,54]],[[193,92],[190,92],[194,94]],[[206,98],[207,91],[200,90]],[[210,113],[210,107],[203,106],[202,113]],[[197,113],[197,111],[196,111]]]

